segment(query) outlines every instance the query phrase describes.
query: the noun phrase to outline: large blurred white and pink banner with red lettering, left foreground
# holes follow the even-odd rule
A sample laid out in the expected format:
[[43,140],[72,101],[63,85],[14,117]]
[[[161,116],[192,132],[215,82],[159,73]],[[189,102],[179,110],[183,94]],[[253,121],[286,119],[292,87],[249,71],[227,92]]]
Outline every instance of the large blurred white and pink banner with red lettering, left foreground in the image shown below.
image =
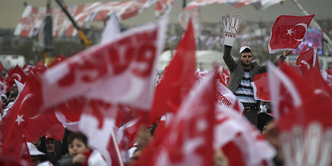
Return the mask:
[[46,70],[40,76],[42,109],[84,97],[149,110],[165,26],[163,19],[129,30]]

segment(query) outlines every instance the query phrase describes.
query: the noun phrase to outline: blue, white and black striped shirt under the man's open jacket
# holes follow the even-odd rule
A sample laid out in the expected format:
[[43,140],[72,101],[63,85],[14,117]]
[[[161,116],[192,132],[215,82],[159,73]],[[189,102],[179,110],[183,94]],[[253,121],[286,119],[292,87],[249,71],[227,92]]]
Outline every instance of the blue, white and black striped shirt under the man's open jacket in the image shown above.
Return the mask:
[[254,90],[250,82],[250,69],[244,69],[245,75],[240,85],[236,88],[234,95],[240,100],[244,107],[256,107],[257,100],[254,99]]

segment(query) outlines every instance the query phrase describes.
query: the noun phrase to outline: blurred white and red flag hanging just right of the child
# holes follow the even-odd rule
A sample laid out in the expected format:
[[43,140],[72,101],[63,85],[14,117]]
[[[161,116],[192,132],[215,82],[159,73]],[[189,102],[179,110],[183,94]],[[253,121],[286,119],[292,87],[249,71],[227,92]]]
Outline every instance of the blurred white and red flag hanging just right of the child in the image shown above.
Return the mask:
[[120,140],[116,137],[114,113],[117,112],[117,107],[100,101],[94,101],[90,103],[90,106],[94,108],[87,110],[92,112],[83,113],[80,117],[80,131],[88,138],[89,146],[103,155],[107,165],[123,163],[119,148]]

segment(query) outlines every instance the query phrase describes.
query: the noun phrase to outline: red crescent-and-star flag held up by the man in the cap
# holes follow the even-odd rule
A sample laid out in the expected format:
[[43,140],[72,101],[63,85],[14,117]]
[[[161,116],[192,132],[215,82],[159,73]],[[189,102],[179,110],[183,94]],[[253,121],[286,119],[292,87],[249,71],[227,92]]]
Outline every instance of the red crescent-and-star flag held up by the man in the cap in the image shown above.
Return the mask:
[[313,15],[279,16],[271,27],[269,53],[296,49],[302,42]]

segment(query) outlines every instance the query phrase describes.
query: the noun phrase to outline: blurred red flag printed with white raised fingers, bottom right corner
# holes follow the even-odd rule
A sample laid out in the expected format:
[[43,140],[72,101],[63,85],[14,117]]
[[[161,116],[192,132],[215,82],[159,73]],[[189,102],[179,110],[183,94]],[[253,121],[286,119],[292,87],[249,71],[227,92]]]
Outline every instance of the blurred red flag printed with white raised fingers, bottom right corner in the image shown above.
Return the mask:
[[286,166],[331,166],[332,103],[322,96],[294,108],[277,121]]

